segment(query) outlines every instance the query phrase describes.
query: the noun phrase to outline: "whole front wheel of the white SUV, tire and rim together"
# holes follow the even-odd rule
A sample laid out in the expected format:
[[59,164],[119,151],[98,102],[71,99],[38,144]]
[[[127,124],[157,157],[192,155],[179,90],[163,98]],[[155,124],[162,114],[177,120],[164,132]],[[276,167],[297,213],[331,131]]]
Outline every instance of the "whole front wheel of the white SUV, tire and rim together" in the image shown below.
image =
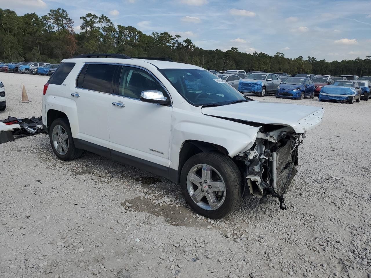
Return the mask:
[[200,215],[221,218],[234,211],[241,199],[241,173],[220,153],[198,153],[181,170],[181,191]]

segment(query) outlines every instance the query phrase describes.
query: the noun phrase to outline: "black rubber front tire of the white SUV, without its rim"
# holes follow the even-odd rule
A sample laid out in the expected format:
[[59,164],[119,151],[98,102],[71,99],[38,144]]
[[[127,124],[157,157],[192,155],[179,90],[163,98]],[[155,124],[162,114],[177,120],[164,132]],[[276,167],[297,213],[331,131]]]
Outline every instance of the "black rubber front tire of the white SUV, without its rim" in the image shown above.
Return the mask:
[[[198,164],[207,164],[215,168],[221,175],[225,183],[225,194],[226,197],[224,202],[219,208],[215,210],[207,210],[198,206],[187,190],[187,176],[188,172]],[[180,186],[181,191],[188,205],[198,214],[203,215],[207,218],[221,218],[230,212],[234,211],[237,206],[240,205],[241,201],[241,185],[242,177],[241,172],[237,168],[237,165],[233,162],[231,158],[220,153],[197,153],[188,159],[181,169],[180,175]]]

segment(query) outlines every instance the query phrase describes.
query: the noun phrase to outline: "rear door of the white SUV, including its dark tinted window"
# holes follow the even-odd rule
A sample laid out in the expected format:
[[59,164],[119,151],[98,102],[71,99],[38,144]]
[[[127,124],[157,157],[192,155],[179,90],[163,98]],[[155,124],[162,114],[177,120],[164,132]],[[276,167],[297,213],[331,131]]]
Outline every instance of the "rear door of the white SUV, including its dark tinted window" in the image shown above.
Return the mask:
[[108,112],[112,106],[113,77],[118,69],[119,66],[114,64],[85,64],[76,80],[74,92],[68,96],[76,102],[78,111],[76,138],[105,147],[107,149],[102,151],[108,153]]

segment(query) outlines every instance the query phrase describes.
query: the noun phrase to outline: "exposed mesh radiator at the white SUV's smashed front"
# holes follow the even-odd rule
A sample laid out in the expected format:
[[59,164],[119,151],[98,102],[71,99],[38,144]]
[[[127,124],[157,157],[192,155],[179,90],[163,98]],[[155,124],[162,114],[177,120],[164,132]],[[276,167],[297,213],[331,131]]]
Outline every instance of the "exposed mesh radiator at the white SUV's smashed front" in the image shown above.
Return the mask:
[[291,153],[293,144],[294,141],[289,140],[277,152],[277,190],[281,196],[288,191],[293,177],[298,173],[294,165],[295,160]]

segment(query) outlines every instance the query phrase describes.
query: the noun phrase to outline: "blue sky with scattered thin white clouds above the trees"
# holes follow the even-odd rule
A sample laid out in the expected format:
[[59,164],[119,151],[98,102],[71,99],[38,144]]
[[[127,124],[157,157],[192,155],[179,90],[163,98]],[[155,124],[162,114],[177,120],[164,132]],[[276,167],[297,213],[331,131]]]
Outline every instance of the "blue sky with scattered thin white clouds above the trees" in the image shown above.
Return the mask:
[[327,61],[371,55],[371,0],[0,0],[0,7],[39,16],[61,7],[76,32],[81,16],[105,14],[116,25],[179,34],[203,49]]

